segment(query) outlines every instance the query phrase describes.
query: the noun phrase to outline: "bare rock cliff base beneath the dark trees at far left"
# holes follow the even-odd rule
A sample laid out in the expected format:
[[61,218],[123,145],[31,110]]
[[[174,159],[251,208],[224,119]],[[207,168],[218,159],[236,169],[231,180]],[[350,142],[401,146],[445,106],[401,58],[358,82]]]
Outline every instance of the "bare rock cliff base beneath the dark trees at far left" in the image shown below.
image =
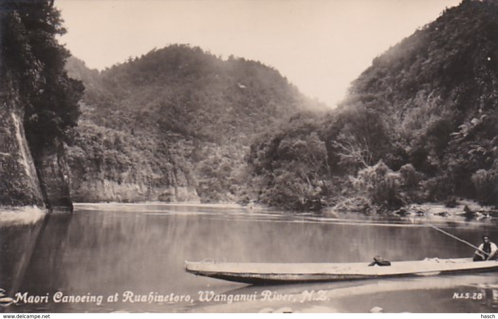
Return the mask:
[[0,96],[0,205],[72,210],[62,144],[33,157],[24,133],[22,106],[3,85]]

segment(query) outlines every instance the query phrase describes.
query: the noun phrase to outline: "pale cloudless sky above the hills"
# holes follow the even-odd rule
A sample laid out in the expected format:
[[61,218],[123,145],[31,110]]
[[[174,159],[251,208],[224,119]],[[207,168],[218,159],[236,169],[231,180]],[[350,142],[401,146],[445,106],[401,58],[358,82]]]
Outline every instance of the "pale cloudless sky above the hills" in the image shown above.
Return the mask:
[[103,70],[173,43],[277,69],[334,107],[373,58],[460,0],[56,0],[60,38]]

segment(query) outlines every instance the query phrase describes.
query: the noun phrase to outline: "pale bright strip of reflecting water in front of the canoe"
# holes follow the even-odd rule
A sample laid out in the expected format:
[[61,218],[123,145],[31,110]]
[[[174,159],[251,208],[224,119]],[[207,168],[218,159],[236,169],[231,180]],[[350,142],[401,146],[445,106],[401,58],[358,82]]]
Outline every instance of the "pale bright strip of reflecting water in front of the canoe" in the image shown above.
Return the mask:
[[[219,294],[186,309],[194,313],[342,312],[454,313],[490,312],[496,307],[494,274],[383,279],[329,284],[247,286]],[[256,296],[246,300],[244,296]],[[248,299],[248,298],[246,298]],[[230,301],[236,302],[230,302]]]

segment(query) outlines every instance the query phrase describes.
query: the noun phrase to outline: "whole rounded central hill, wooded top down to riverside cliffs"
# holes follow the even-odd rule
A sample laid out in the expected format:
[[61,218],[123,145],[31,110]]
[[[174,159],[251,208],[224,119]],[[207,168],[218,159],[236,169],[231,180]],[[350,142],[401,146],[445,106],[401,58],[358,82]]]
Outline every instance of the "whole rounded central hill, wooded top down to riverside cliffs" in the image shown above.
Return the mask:
[[271,67],[188,45],[66,67],[86,87],[69,152],[77,200],[237,200],[253,137],[324,108]]

